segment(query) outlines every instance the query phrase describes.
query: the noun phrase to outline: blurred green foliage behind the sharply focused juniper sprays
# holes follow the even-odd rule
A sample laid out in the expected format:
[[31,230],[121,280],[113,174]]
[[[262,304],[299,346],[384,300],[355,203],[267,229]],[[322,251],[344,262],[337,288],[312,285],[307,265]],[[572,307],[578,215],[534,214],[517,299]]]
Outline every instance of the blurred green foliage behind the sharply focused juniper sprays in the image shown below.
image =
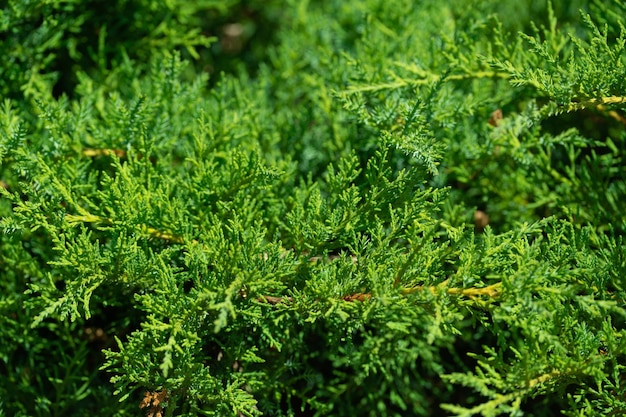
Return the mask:
[[[608,45],[620,36],[625,10],[617,0],[551,4],[562,33],[589,37],[582,10],[608,25]],[[160,94],[150,87],[158,84],[155,68],[172,76],[166,64],[178,52],[189,65],[177,76],[206,91],[189,93],[178,108],[172,100],[172,107],[153,109],[153,123],[159,114],[196,114],[202,94],[226,120],[245,114],[262,121],[231,139],[245,145],[248,135],[268,163],[280,161],[294,173],[280,179],[285,187],[277,187],[277,199],[287,201],[293,186],[315,181],[322,193],[332,192],[326,179],[333,161],[354,154],[365,167],[393,145],[396,172],[424,165],[433,174],[428,185],[450,187],[440,216],[452,225],[473,227],[482,213],[488,220],[476,220],[477,232],[486,224],[506,232],[551,215],[578,227],[593,224],[600,234],[626,229],[624,119],[611,113],[619,109],[546,115],[540,108],[554,100],[551,91],[508,79],[406,82],[487,71],[498,59],[526,56],[532,48],[518,32],[550,27],[547,1],[9,0],[0,13],[0,94],[20,110],[22,136],[43,132],[46,117],[54,117],[46,103],[55,100],[87,103],[104,129],[102,122],[113,119],[105,100]],[[564,61],[576,53],[571,45],[562,51]],[[193,136],[177,126],[170,138]],[[111,148],[125,145],[112,140]],[[176,146],[166,139],[161,145]],[[437,158],[422,158],[420,149]],[[3,158],[0,185],[17,188],[11,155]],[[0,203],[0,216],[10,211]],[[287,236],[281,212],[267,213],[275,217],[271,233]],[[105,288],[92,319],[31,328],[36,313],[24,308],[25,281],[42,278],[51,259],[47,242],[37,230],[0,239],[0,374],[8,375],[0,381],[0,412],[137,415],[137,399],[125,406],[112,395],[108,375],[99,371],[100,351],[113,346],[107,335],[128,334],[144,317],[128,311],[115,288]],[[466,335],[456,343],[469,349],[479,342]],[[451,394],[466,395],[472,394]],[[540,398],[526,407],[540,415],[547,406]]]

